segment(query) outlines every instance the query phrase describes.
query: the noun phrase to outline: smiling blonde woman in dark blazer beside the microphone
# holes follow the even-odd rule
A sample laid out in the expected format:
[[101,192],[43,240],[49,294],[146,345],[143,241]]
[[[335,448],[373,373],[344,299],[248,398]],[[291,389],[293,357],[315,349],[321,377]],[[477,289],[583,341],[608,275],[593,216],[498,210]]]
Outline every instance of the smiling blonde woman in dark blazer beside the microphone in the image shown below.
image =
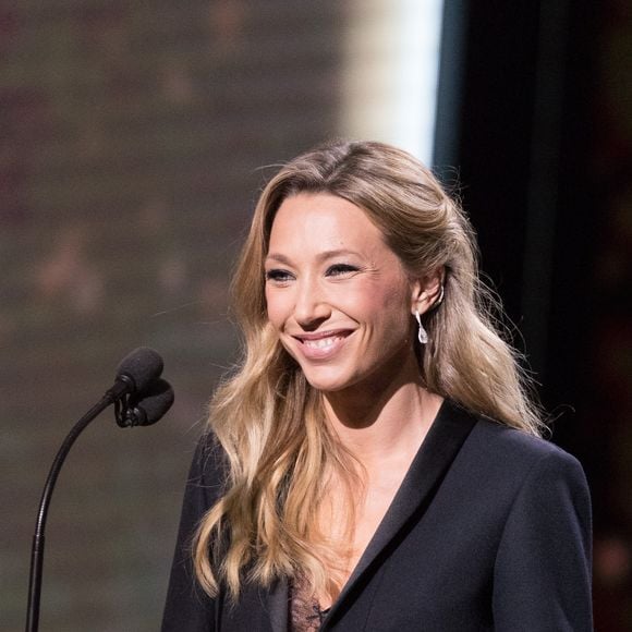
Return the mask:
[[542,440],[472,229],[378,143],[264,190],[165,631],[591,630],[590,498]]

